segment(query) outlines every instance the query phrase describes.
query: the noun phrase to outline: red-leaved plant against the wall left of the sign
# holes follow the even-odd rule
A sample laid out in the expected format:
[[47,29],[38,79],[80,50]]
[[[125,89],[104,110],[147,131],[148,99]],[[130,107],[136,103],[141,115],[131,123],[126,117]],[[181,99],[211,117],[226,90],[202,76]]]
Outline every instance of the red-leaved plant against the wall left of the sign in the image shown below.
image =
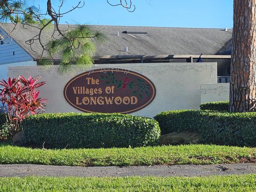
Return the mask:
[[39,98],[36,89],[45,84],[38,82],[39,78],[23,76],[0,81],[0,102],[6,111],[6,119],[12,126],[11,134],[22,130],[21,122],[29,115],[41,113],[45,99]]

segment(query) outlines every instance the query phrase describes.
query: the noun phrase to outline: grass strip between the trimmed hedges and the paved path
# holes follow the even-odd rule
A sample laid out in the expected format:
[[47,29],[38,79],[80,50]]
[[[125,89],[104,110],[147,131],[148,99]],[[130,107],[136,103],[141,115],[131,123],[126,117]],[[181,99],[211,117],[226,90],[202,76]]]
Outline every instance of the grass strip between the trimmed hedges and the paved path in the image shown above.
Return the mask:
[[0,144],[0,164],[125,166],[256,162],[256,148],[180,145],[140,148],[44,150]]

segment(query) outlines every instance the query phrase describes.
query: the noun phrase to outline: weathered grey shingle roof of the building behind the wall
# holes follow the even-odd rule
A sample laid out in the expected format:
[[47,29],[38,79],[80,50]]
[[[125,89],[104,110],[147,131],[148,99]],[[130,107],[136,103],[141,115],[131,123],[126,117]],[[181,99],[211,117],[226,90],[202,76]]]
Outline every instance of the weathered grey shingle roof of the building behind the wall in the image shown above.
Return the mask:
[[[6,32],[13,29],[11,23],[0,23]],[[61,25],[65,28],[66,25]],[[74,27],[74,26],[73,26]],[[223,29],[170,28],[170,27],[127,27],[127,26],[91,26],[105,34],[108,42],[97,45],[95,56],[103,55],[175,55],[220,53],[232,36],[232,31]],[[119,36],[117,36],[119,31]],[[124,34],[122,31],[146,31],[147,34]],[[42,47],[35,42],[30,46],[26,40],[38,34],[34,27],[17,25],[11,36],[35,59],[40,58]],[[51,38],[50,31],[43,34],[44,43]],[[128,52],[125,51],[128,47]],[[49,57],[46,53],[45,58]],[[58,56],[57,56],[58,57]]]

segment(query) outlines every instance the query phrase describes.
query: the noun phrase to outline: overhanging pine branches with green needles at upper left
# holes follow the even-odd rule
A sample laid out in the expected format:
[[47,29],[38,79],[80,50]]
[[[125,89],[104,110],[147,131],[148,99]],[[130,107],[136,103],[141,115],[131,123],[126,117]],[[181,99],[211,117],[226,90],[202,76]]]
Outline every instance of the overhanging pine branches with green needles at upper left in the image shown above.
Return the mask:
[[[135,10],[135,5],[131,0],[106,0],[111,6],[122,6],[129,12]],[[115,4],[115,2],[117,2]],[[21,23],[23,27],[30,26],[38,30],[38,34],[27,39],[28,45],[39,43],[43,47],[41,53],[40,65],[51,65],[54,61],[55,54],[61,55],[59,71],[67,71],[71,64],[79,66],[90,66],[93,63],[92,55],[95,53],[95,41],[103,42],[106,37],[100,31],[90,28],[87,25],[77,25],[75,28],[66,25],[66,28],[60,26],[63,15],[68,14],[76,9],[84,7],[84,1],[78,1],[76,5],[70,7],[70,10],[63,11],[64,0],[59,1],[58,7],[52,6],[52,0],[46,1],[46,10],[41,10],[38,6],[29,6],[26,0],[0,0],[0,21],[12,22],[13,30]],[[113,4],[114,3],[114,4]],[[12,31],[13,31],[12,30]],[[43,33],[50,30],[52,34],[51,41],[44,43]],[[8,34],[0,34],[3,42],[10,42],[12,31]],[[32,49],[32,47],[31,47]],[[36,50],[33,50],[36,52]],[[49,53],[51,59],[43,58],[44,52]]]

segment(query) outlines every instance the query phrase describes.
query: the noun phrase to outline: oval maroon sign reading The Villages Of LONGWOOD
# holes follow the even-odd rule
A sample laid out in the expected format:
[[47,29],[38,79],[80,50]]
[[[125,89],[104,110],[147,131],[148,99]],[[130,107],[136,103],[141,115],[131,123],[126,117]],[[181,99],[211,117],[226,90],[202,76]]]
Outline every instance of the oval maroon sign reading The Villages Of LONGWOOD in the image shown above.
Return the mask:
[[72,78],[64,89],[68,103],[85,112],[132,113],[153,101],[154,84],[126,69],[97,69]]

